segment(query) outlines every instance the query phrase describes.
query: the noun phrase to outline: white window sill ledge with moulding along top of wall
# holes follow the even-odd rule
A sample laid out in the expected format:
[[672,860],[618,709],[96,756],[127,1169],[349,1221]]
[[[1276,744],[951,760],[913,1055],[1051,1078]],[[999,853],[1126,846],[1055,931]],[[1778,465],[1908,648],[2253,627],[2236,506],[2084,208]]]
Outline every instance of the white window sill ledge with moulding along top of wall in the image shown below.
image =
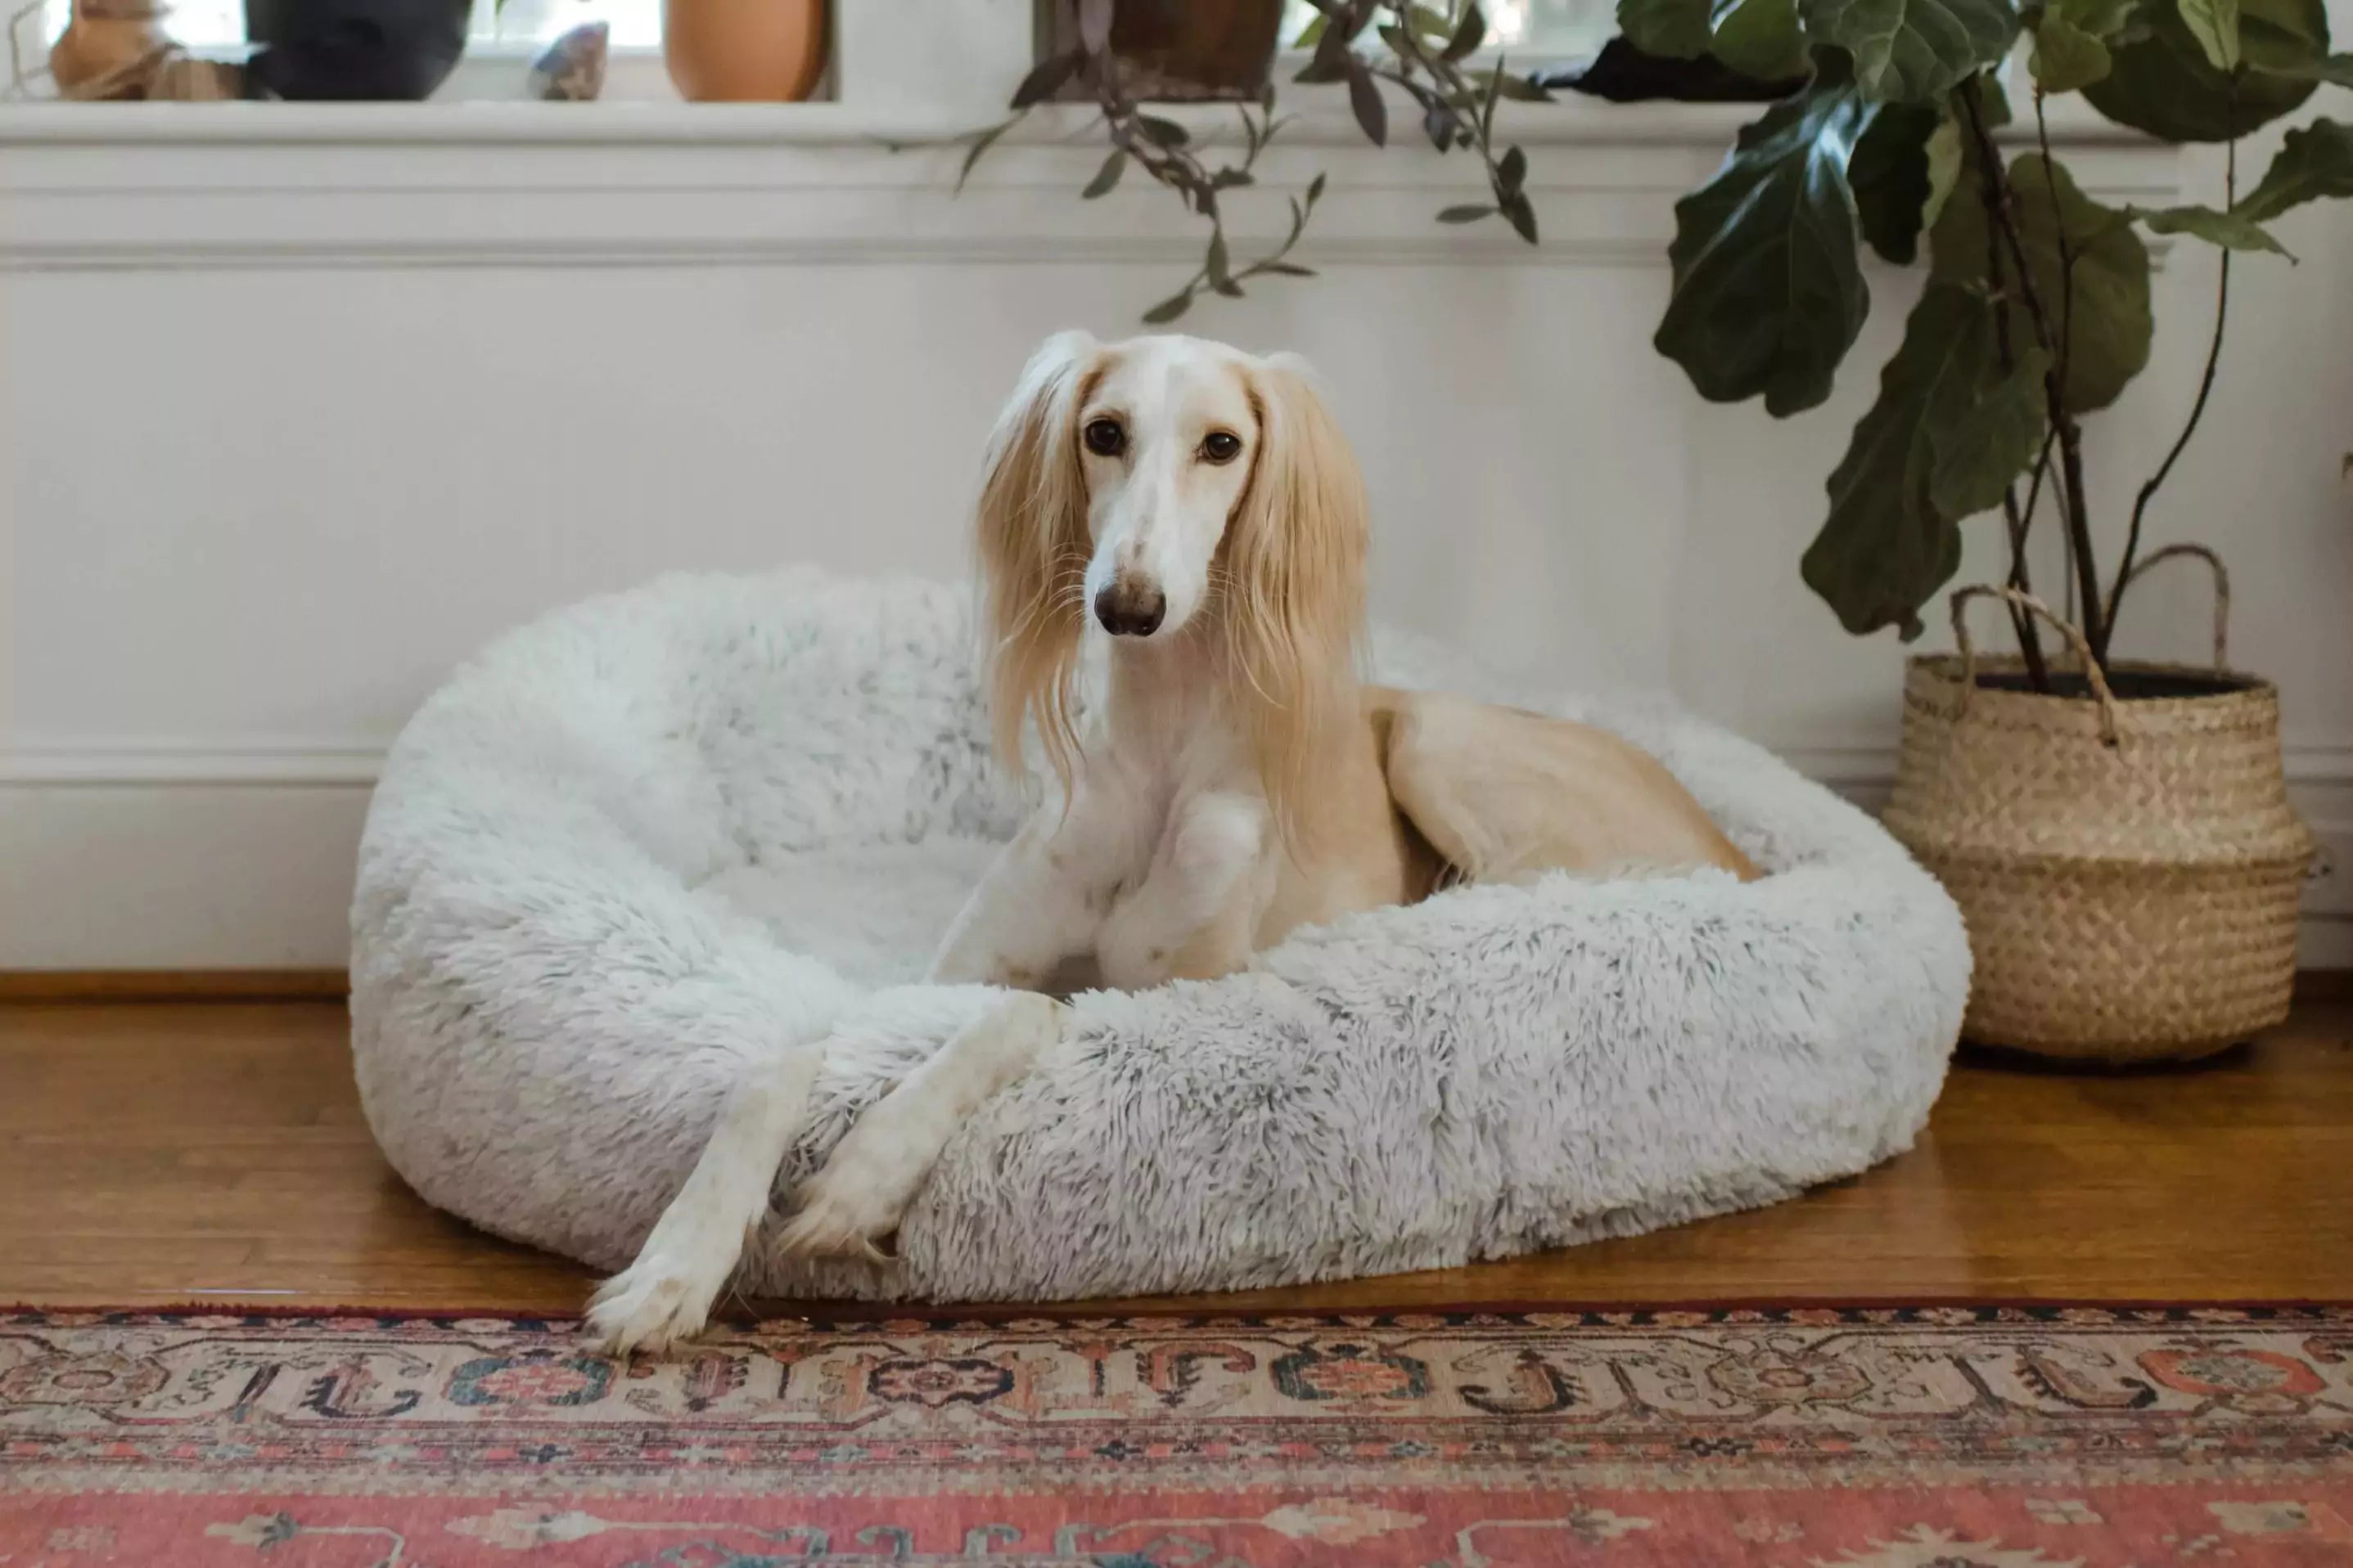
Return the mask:
[[[1311,266],[1661,266],[1675,197],[1758,113],[1506,106],[1544,233],[1527,247],[1494,221],[1433,221],[1485,197],[1468,155],[1407,141],[1402,115],[1374,148],[1344,101],[1299,99],[1226,226],[1264,252],[1285,197],[1325,174]],[[1238,143],[1231,108],[1172,118]],[[7,103],[0,270],[1198,261],[1200,223],[1148,181],[1080,200],[1104,160],[1092,110],[1031,115],[955,193],[972,129],[864,103]],[[2052,141],[2104,200],[2181,200],[2169,146],[2097,118],[2054,120]]]

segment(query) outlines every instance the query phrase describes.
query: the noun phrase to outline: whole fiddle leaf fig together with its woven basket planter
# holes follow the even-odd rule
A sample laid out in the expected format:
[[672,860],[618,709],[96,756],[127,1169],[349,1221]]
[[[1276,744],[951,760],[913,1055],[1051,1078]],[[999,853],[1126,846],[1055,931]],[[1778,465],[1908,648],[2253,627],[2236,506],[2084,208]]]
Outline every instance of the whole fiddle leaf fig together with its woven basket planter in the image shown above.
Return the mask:
[[[2007,538],[2007,581],[1951,597],[1958,654],[1908,665],[1887,809],[1969,922],[1965,1032],[2127,1060],[2200,1056],[2278,1023],[2311,858],[2280,780],[2278,693],[2226,663],[2219,557],[2148,550],[2144,524],[2205,414],[2233,259],[2285,256],[2271,219],[2353,195],[2353,132],[2334,120],[2289,129],[2252,188],[2238,172],[2240,136],[2322,82],[2353,85],[2353,56],[2327,54],[2320,0],[1941,0],[1934,14],[1621,0],[1619,26],[1652,59],[1807,71],[1675,205],[1657,348],[1704,397],[1762,397],[1777,418],[1819,404],[1868,310],[1861,247],[1925,261],[1802,576],[1849,632],[1911,639],[1960,567],[1962,527],[1993,517]],[[2021,31],[2031,143],[2005,155],[2000,80]],[[2045,101],[2061,92],[2165,141],[2224,143],[2224,205],[2085,195],[2049,150]],[[2148,362],[2141,230],[2219,249],[2214,322],[2179,437],[2129,510],[2101,515],[2082,421]],[[2035,597],[2028,571],[2045,503],[2066,543],[2064,607]],[[2120,550],[2101,555],[2101,520],[2118,512]],[[2167,559],[2212,567],[2212,668],[2118,656],[2129,590]],[[1962,609],[1979,597],[2007,604],[2017,656],[1974,654]]]

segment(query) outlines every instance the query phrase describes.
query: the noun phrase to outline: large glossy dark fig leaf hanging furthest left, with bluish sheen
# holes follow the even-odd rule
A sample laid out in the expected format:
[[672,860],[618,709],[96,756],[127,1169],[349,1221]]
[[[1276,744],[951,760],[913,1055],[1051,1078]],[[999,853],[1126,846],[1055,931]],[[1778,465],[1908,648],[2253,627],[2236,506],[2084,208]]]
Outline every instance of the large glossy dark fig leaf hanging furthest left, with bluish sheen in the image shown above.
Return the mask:
[[1866,106],[1838,56],[1741,129],[1706,186],[1675,202],[1673,296],[1652,339],[1711,402],[1765,395],[1774,418],[1831,395],[1871,296],[1847,158]]

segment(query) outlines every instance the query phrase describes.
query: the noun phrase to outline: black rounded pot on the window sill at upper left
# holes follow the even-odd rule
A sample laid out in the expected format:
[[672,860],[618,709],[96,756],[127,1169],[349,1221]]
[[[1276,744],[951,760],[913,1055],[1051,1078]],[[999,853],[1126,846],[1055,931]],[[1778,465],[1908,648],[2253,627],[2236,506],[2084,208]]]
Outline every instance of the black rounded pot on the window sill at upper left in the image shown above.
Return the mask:
[[254,99],[433,96],[466,52],[468,0],[245,0]]

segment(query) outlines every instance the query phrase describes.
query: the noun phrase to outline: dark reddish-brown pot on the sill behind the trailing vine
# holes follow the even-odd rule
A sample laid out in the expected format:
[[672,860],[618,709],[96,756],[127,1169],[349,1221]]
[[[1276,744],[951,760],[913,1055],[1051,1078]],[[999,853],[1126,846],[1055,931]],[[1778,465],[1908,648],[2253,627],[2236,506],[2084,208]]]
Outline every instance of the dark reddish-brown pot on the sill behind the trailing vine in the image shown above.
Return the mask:
[[[1078,0],[1054,0],[1040,21],[1038,59],[1078,49]],[[1115,0],[1111,56],[1129,96],[1158,103],[1257,103],[1275,68],[1282,0]],[[1092,103],[1073,75],[1061,101]]]

